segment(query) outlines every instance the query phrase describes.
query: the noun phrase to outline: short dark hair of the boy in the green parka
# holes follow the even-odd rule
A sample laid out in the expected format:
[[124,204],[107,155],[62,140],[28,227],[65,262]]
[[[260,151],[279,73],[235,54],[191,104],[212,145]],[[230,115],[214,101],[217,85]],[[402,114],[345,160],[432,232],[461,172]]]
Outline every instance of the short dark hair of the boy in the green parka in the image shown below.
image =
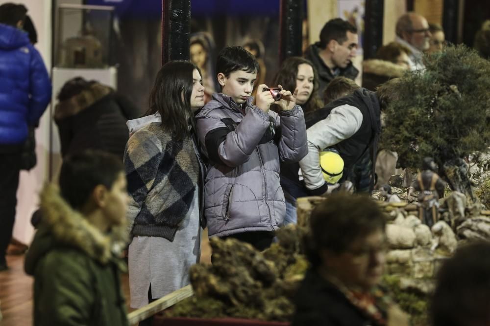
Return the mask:
[[117,156],[86,150],[63,159],[59,176],[61,196],[75,210],[80,210],[88,202],[98,185],[111,189],[120,173],[124,172],[123,162]]

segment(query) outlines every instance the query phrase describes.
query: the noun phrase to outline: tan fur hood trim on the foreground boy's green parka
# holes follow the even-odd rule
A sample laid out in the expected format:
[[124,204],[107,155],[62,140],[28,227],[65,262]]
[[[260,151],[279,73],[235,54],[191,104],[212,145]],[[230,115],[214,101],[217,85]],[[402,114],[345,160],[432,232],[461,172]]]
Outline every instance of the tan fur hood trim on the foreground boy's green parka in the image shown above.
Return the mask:
[[55,243],[73,246],[100,263],[121,255],[126,241],[126,226],[113,227],[104,234],[61,197],[59,189],[48,184],[41,193],[42,224],[50,230]]

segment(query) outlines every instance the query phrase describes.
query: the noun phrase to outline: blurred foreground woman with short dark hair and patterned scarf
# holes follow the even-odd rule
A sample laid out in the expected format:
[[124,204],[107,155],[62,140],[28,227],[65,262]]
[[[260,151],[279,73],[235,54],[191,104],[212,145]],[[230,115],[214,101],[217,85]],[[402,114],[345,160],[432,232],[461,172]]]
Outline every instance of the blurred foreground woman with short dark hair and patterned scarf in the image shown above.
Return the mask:
[[293,326],[408,325],[378,288],[385,217],[368,196],[337,193],[313,210],[305,237],[311,263],[296,293]]

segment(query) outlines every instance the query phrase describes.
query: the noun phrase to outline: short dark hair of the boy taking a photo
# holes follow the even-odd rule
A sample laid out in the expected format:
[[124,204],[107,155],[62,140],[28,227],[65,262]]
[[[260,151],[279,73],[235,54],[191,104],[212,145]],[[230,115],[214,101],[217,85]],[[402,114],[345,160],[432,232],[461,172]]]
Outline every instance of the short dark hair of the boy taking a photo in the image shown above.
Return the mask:
[[233,71],[242,70],[256,73],[259,64],[255,57],[242,46],[227,46],[218,54],[216,62],[216,73],[222,73],[226,78]]

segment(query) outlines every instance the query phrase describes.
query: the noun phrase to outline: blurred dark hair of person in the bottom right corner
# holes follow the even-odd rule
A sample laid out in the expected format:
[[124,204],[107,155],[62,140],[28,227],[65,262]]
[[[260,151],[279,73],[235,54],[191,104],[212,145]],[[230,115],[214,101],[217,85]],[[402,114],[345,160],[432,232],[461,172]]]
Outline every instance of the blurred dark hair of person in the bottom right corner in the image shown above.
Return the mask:
[[441,266],[430,304],[433,326],[488,325],[490,243],[463,246]]

